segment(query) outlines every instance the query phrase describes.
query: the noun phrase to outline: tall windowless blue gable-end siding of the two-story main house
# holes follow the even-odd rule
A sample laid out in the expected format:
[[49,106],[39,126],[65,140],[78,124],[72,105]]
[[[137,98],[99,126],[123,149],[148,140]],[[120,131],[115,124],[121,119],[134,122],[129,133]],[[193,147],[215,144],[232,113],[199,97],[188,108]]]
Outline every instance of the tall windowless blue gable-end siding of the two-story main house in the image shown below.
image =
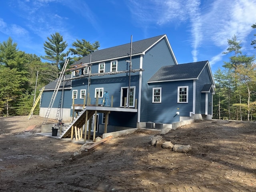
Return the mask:
[[165,39],[160,40],[148,50],[143,56],[142,62],[144,71],[142,72],[140,122],[147,122],[148,115],[150,115],[152,110],[148,106],[152,102],[152,94],[150,95],[149,93],[150,90],[147,82],[162,66],[174,65],[175,62]]

